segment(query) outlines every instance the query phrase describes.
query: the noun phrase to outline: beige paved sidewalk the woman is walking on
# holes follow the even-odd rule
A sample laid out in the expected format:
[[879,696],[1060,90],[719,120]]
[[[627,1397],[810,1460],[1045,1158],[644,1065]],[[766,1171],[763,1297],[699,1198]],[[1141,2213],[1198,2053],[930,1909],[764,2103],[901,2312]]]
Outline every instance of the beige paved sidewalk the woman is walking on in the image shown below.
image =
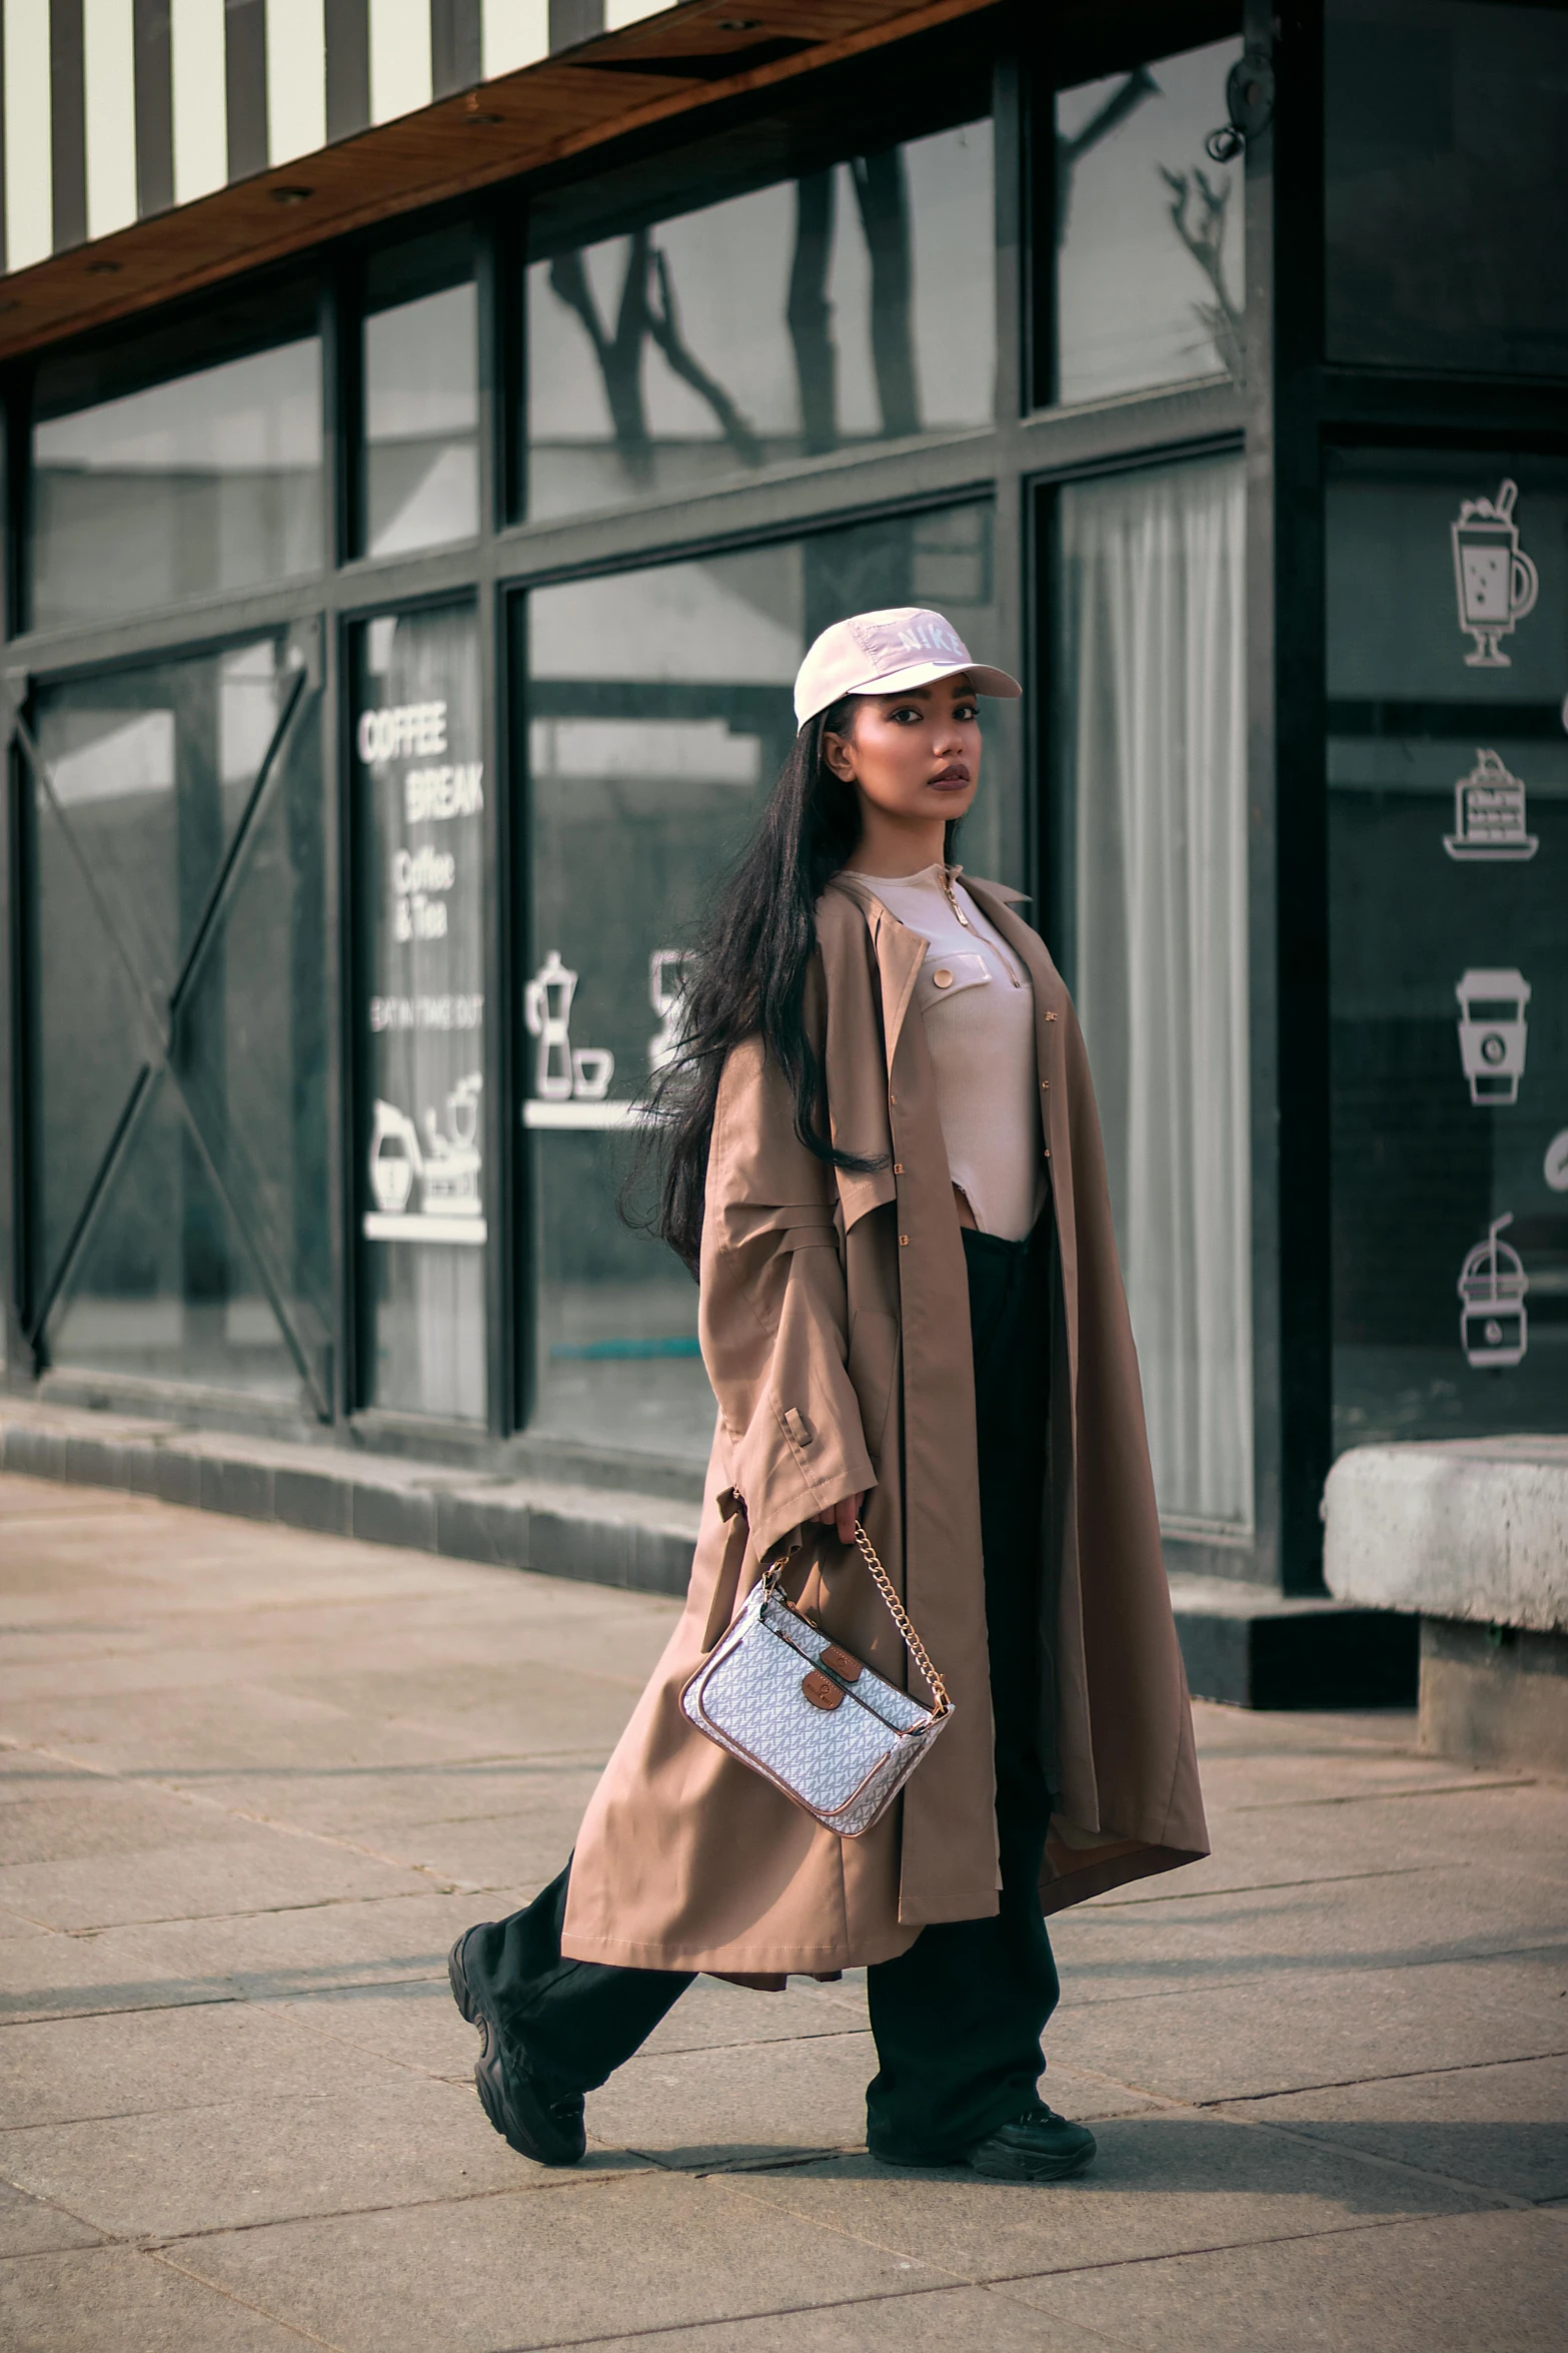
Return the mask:
[[7,2353],[1561,2353],[1568,1788],[1199,1708],[1215,1854],[1053,1922],[1091,2174],[867,2160],[860,1988],[701,1979],[496,2139],[447,1946],[677,1605],[0,1478]]

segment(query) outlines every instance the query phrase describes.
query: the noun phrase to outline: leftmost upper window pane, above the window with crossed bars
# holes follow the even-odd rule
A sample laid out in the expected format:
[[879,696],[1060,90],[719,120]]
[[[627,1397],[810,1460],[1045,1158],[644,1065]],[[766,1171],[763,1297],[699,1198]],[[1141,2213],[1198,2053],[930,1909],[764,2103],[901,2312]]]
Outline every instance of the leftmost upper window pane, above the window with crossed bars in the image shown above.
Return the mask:
[[99,398],[40,369],[33,421],[33,628],[252,588],[322,562],[322,348],[315,334]]

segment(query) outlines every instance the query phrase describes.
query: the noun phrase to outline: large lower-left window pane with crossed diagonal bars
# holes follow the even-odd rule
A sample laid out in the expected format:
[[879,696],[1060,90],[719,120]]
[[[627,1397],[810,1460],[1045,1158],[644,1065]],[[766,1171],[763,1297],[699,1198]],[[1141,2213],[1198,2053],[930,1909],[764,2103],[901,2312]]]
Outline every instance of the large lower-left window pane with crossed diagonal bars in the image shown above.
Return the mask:
[[268,635],[47,687],[35,734],[45,1355],[327,1412],[317,694]]

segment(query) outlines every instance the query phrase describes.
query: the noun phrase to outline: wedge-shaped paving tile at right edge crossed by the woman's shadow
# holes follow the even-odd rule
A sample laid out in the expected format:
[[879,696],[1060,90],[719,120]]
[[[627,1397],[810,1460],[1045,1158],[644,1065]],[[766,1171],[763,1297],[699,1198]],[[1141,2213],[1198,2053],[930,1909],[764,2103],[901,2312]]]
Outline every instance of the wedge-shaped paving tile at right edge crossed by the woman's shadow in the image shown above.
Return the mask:
[[1366,2148],[1472,2188],[1568,2198],[1568,2057],[1258,2099],[1244,2120]]

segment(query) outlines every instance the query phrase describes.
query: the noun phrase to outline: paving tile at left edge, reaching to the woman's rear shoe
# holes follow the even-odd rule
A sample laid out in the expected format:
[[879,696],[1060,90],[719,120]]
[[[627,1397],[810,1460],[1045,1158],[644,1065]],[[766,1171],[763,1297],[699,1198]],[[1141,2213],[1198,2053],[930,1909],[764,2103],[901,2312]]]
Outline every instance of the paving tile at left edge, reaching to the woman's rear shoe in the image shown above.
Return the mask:
[[[350,2097],[237,2099],[0,2139],[0,2165],[113,2238],[428,2205],[555,2179],[491,2132],[473,2089],[360,2066]],[[595,2167],[623,2169],[599,2153]]]

